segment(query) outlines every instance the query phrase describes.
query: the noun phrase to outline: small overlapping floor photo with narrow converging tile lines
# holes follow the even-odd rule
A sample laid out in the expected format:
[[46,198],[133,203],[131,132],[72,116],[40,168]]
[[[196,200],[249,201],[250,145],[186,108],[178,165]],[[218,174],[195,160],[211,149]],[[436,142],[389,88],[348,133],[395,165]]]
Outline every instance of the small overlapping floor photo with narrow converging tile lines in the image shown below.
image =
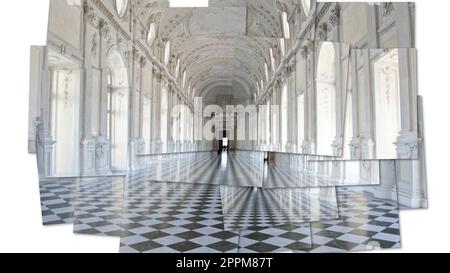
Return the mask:
[[298,225],[337,219],[336,190],[263,189],[221,186],[226,230]]

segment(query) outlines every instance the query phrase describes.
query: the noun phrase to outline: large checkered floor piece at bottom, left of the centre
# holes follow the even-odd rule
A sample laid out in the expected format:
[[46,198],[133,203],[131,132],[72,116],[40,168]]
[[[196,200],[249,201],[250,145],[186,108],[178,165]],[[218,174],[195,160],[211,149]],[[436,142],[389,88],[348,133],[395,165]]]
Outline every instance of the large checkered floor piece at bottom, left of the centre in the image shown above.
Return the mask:
[[121,253],[237,253],[216,185],[146,182],[126,188]]

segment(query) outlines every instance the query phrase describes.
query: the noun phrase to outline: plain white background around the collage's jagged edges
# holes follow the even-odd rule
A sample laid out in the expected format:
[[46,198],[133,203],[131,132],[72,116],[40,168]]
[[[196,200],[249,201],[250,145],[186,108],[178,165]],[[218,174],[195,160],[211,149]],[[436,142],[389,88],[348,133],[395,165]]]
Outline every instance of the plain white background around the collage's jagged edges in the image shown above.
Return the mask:
[[[186,0],[184,0],[186,1]],[[43,227],[35,156],[27,154],[29,49],[46,43],[48,0],[1,1],[0,252],[112,252],[119,239]],[[417,0],[430,209],[401,213],[401,250],[450,252],[450,1]]]

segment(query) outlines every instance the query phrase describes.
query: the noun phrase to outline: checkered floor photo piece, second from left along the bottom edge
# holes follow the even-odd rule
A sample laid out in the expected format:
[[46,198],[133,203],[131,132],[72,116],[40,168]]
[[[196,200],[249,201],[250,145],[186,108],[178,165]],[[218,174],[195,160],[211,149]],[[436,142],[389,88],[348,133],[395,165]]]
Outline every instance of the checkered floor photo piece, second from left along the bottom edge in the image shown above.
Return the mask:
[[121,236],[124,177],[80,179],[74,232]]

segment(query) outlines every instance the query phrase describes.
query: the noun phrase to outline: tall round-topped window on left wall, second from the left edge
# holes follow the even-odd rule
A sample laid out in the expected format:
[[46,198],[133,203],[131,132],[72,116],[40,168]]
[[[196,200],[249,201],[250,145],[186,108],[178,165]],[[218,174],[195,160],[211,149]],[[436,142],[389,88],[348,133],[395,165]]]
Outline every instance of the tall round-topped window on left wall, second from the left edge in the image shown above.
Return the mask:
[[111,142],[111,169],[128,169],[128,69],[119,51],[113,49],[107,58],[108,99],[107,136]]

